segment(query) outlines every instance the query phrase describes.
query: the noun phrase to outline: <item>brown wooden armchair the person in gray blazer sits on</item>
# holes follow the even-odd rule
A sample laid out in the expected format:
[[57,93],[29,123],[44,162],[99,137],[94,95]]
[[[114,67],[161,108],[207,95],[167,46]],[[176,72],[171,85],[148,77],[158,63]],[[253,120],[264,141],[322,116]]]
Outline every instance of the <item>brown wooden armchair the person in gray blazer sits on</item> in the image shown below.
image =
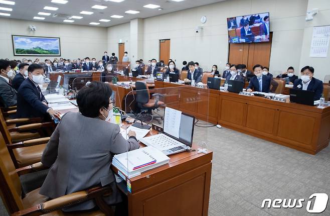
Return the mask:
[[[38,163],[21,169],[15,169],[7,147],[2,140],[4,140],[3,136],[0,135],[0,194],[11,215],[113,215],[111,207],[102,199],[102,196],[111,194],[112,190],[110,187],[96,186],[51,200],[39,194],[40,188],[37,188],[22,198],[19,173],[34,171],[34,169],[41,168],[42,164]],[[61,210],[64,207],[91,199],[95,200],[100,210],[88,212],[63,212]]]

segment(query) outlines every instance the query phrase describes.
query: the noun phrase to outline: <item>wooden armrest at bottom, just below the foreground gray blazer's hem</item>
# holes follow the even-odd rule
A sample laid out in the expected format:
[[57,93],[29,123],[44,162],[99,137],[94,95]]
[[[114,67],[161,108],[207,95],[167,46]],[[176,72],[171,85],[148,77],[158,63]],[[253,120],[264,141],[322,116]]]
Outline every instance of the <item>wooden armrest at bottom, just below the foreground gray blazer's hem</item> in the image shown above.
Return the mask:
[[[64,207],[75,205],[81,202],[85,202],[90,199],[98,199],[103,195],[110,195],[112,192],[111,187],[94,187],[88,190],[78,191],[75,193],[67,194],[44,203],[41,203],[37,206],[27,208],[24,210],[17,211],[13,213],[13,216],[23,216],[23,215],[42,215],[49,213]],[[111,207],[108,206],[109,211],[106,215],[112,215]],[[103,209],[101,208],[103,211]],[[110,212],[110,213],[109,213]],[[111,213],[112,212],[112,213]]]

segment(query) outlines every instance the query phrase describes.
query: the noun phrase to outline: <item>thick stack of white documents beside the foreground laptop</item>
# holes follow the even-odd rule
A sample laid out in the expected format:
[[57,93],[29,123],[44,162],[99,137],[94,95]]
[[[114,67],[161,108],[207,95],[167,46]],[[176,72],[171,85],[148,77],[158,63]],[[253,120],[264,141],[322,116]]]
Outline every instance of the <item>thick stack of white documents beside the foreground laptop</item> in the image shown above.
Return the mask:
[[115,155],[112,164],[123,175],[132,178],[142,172],[168,164],[170,158],[152,146]]

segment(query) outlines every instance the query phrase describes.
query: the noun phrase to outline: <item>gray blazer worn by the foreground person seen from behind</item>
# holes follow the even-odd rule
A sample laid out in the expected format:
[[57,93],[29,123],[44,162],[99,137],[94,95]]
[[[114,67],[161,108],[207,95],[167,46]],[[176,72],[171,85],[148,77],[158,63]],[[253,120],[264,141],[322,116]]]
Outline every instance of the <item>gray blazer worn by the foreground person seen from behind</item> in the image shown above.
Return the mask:
[[[43,152],[41,162],[51,167],[40,194],[57,198],[96,185],[109,185],[112,195],[103,199],[108,204],[121,201],[114,174],[110,168],[114,154],[138,149],[133,138],[127,141],[116,124],[80,113],[65,114]],[[90,200],[63,210],[91,209]]]

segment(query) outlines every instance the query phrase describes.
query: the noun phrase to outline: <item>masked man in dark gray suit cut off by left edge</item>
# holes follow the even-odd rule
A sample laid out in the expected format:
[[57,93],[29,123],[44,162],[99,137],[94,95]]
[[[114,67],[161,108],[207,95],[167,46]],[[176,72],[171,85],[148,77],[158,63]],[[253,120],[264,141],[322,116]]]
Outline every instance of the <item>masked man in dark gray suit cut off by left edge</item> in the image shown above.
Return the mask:
[[0,105],[4,107],[17,104],[17,92],[11,84],[14,72],[10,61],[0,59]]

